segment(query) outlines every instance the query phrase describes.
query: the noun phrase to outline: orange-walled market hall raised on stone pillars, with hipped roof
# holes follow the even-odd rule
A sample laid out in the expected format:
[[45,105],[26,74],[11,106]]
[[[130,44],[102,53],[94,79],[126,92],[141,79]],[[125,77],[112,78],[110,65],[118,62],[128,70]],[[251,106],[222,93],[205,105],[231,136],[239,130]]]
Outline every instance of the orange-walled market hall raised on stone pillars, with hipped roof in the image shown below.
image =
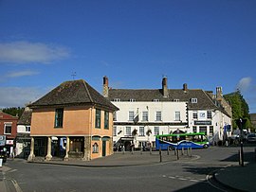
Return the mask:
[[65,81],[29,108],[28,161],[35,156],[87,161],[113,153],[113,113],[118,108],[86,81]]

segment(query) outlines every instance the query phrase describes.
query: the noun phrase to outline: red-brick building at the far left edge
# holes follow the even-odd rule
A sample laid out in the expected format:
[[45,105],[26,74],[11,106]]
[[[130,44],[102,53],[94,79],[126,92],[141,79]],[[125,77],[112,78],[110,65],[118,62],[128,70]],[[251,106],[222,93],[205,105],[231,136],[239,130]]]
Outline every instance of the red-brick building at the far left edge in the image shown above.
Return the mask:
[[7,154],[10,156],[14,152],[14,139],[17,135],[18,116],[12,116],[0,111],[0,135],[6,136]]

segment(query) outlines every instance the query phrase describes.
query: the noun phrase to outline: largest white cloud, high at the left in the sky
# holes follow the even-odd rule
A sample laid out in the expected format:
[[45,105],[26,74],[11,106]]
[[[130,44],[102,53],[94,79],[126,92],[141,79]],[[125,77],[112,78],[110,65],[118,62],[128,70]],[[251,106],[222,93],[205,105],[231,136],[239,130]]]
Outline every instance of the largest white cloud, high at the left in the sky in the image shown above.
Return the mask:
[[12,42],[0,44],[0,62],[49,63],[69,56],[64,46],[55,44]]

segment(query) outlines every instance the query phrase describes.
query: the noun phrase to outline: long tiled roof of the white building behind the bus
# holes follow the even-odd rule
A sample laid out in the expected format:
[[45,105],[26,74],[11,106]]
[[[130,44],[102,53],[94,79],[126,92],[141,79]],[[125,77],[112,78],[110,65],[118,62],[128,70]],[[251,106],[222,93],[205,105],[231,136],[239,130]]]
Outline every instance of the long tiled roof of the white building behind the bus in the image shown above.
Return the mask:
[[[188,102],[188,108],[194,110],[200,109],[216,109],[217,106],[207,93],[201,89],[188,89],[183,91],[182,89],[169,89],[169,96],[164,97],[161,89],[145,89],[145,90],[132,90],[132,89],[110,89],[109,99],[113,101],[119,98],[120,101],[129,101],[130,99],[136,99],[136,101],[153,101],[158,99],[159,101],[179,101]],[[197,98],[196,103],[192,103],[192,98]]]

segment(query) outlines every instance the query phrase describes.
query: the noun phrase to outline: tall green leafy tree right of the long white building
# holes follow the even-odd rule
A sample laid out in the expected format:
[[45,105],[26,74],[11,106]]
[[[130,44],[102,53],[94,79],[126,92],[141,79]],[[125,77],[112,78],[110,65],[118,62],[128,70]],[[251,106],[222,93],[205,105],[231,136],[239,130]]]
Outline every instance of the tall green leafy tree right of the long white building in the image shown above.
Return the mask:
[[247,101],[242,96],[241,92],[238,90],[234,93],[228,94],[224,96],[226,100],[229,101],[229,104],[232,108],[232,127],[239,128],[236,120],[239,118],[247,119],[247,123],[244,125],[244,128],[250,128],[251,122],[249,117],[249,108],[247,105]]

